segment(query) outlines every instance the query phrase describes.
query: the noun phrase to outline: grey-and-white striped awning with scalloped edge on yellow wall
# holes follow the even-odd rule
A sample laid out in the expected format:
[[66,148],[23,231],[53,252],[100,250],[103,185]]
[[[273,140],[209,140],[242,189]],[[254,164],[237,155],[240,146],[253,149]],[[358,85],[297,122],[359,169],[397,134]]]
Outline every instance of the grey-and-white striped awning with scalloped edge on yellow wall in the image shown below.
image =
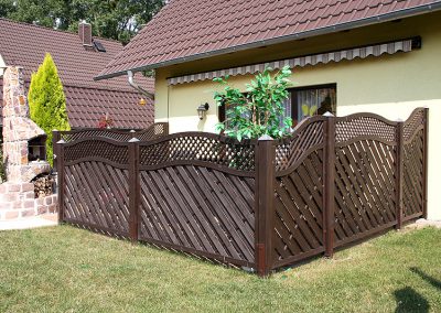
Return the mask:
[[169,78],[169,85],[178,85],[191,82],[213,79],[215,77],[236,76],[255,74],[262,72],[265,68],[280,69],[286,65],[291,68],[304,67],[306,65],[327,64],[330,62],[340,62],[342,60],[366,58],[368,56],[380,56],[383,54],[395,54],[397,52],[410,52],[412,48],[421,46],[421,39],[406,39],[389,43],[374,44],[368,46],[354,47],[348,50],[341,50],[327,53],[312,54],[306,56],[299,56],[282,61],[267,62],[254,65],[246,65],[240,67],[219,69],[206,73],[198,73],[179,77]]

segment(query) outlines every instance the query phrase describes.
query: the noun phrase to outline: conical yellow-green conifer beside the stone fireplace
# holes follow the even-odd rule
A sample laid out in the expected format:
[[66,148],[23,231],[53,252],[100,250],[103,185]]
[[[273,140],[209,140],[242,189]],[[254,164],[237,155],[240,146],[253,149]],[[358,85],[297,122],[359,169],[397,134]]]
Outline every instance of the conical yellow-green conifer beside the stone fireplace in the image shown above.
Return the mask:
[[29,107],[31,119],[47,134],[47,161],[53,164],[52,131],[69,130],[66,111],[66,98],[62,80],[51,54],[46,54],[39,71],[32,74],[29,87]]

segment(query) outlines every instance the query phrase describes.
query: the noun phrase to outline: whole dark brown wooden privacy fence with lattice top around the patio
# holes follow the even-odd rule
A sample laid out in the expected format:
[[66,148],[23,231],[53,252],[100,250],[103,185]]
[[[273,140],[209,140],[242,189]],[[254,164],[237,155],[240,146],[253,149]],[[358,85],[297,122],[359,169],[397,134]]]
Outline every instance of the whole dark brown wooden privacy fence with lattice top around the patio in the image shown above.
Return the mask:
[[283,140],[58,144],[60,219],[260,276],[426,216],[428,110],[313,117]]

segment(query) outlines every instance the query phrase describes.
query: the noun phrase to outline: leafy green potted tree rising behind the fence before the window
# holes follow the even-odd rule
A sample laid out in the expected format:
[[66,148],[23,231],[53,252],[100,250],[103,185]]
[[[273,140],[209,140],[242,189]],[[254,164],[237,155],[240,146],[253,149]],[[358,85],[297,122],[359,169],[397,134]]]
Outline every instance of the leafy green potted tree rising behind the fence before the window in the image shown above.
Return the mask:
[[227,84],[228,77],[215,78],[224,85],[222,91],[215,93],[218,106],[226,105],[226,120],[216,126],[217,131],[225,131],[226,136],[237,140],[243,138],[259,138],[268,134],[281,138],[292,126],[290,117],[284,117],[283,101],[288,98],[288,86],[291,75],[289,66],[284,66],[276,75],[271,68],[258,73],[250,84],[246,85],[246,93],[233,88]]

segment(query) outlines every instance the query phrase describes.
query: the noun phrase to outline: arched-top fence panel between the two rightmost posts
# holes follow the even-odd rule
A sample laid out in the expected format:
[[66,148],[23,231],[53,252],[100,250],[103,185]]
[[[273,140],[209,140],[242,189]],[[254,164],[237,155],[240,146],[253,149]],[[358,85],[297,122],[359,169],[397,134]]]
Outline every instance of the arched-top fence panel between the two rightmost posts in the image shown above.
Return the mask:
[[358,114],[336,118],[335,246],[397,224],[397,122]]

